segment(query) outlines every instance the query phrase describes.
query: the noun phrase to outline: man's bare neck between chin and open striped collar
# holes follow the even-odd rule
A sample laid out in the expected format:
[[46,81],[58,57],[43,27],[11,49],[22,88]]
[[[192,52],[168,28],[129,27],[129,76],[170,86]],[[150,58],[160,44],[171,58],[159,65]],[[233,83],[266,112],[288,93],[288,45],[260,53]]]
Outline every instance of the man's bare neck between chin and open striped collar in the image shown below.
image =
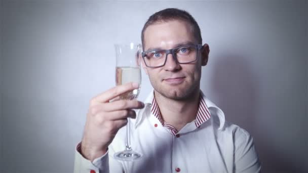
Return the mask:
[[199,108],[200,89],[184,100],[173,100],[154,91],[163,120],[177,131],[188,122],[195,120]]

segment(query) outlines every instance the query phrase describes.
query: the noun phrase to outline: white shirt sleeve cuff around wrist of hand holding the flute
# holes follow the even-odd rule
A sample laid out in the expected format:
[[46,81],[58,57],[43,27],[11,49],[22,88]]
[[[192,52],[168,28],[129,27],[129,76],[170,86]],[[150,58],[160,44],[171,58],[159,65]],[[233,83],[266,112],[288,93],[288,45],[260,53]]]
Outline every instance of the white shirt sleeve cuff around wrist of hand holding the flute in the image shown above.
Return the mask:
[[111,161],[110,163],[109,151],[91,162],[81,154],[81,142],[76,146],[74,173],[109,173],[109,166],[112,168],[110,172],[122,172],[123,169],[121,163],[117,161]]

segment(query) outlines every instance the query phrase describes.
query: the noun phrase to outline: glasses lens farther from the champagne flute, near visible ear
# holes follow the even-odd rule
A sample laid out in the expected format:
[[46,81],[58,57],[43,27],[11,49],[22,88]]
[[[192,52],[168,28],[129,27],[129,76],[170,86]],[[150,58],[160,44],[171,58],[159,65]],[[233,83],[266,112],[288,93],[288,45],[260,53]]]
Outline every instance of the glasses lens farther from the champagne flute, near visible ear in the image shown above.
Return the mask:
[[189,63],[197,59],[197,49],[193,45],[183,46],[175,50],[179,63]]

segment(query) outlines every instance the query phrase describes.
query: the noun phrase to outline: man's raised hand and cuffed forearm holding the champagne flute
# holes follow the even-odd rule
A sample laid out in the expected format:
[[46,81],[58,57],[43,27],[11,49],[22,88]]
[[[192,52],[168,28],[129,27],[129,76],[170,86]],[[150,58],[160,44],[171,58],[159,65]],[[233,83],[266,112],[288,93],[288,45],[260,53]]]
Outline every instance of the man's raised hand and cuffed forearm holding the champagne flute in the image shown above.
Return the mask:
[[[112,154],[108,152],[109,145],[119,129],[127,124],[127,118],[136,118],[133,109],[144,107],[142,102],[121,100],[120,96],[138,88],[138,83],[126,83],[91,99],[82,142],[76,146],[75,172],[109,172],[112,166],[109,163],[108,155]],[[118,164],[114,159],[111,162]],[[110,172],[114,172],[113,169]]]

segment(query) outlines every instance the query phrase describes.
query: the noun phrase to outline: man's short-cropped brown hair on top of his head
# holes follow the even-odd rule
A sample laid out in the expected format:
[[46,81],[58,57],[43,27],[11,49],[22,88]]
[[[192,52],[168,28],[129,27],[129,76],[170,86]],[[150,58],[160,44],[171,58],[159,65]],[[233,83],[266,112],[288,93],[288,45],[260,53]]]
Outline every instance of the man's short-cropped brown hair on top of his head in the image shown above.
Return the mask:
[[147,21],[145,22],[142,28],[142,32],[141,32],[142,44],[144,43],[144,31],[149,25],[156,23],[156,22],[168,22],[168,21],[173,21],[173,20],[182,20],[182,21],[185,21],[191,24],[193,32],[194,32],[194,36],[196,40],[198,41],[198,44],[202,44],[201,31],[200,31],[198,23],[193,18],[193,16],[191,16],[188,12],[184,10],[179,10],[175,8],[161,10],[151,15],[147,19]]

